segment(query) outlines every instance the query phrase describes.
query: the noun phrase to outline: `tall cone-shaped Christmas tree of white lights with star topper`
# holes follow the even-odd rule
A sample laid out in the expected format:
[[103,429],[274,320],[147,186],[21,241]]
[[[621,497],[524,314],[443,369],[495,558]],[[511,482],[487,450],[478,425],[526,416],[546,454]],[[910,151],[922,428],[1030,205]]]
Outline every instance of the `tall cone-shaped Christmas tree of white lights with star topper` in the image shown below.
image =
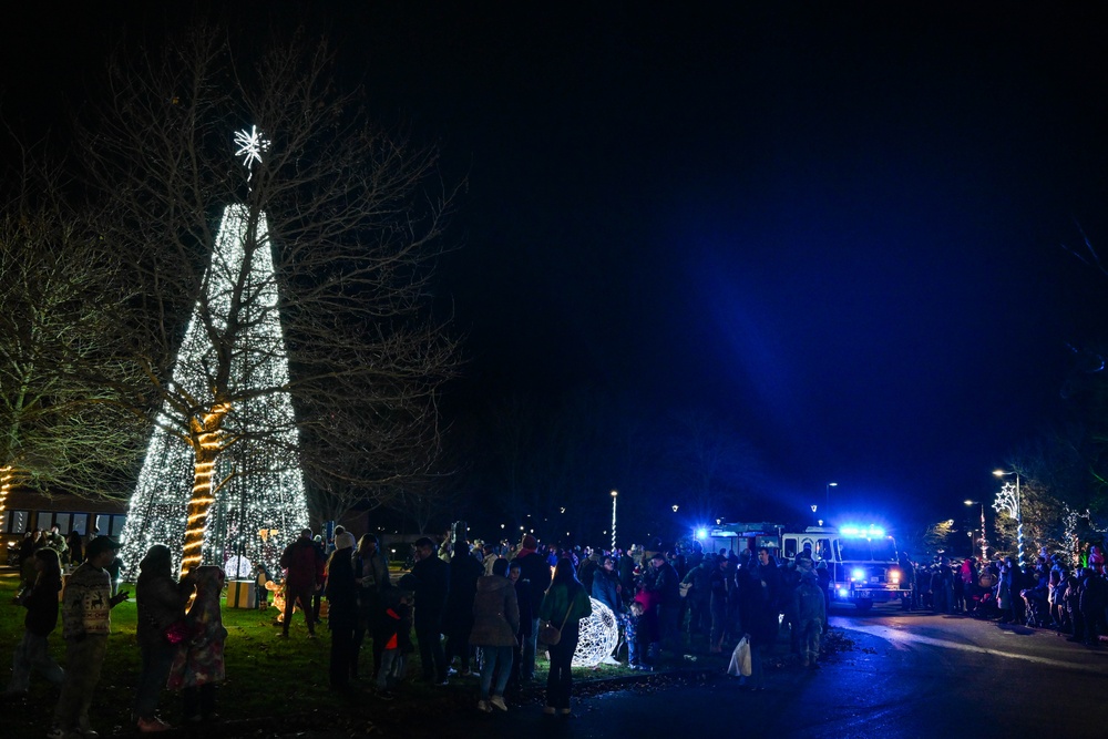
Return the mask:
[[[256,130],[236,142],[248,170],[260,162]],[[264,213],[224,209],[202,290],[131,499],[122,552],[131,576],[155,543],[182,572],[204,563],[229,564],[232,578],[248,577],[249,565],[276,574],[285,544],[308,524]]]

